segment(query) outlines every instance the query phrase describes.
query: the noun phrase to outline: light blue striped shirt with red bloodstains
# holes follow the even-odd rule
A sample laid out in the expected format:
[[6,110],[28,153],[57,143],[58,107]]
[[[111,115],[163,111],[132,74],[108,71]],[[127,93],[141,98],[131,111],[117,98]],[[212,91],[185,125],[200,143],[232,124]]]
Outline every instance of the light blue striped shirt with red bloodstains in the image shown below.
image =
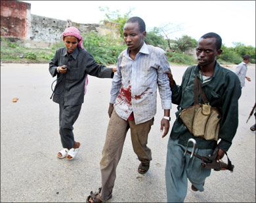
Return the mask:
[[169,68],[161,48],[144,43],[135,60],[128,48],[121,52],[110,91],[110,103],[115,103],[117,115],[127,120],[133,112],[135,124],[152,119],[156,115],[157,88],[161,107],[171,109],[171,88],[164,73]]

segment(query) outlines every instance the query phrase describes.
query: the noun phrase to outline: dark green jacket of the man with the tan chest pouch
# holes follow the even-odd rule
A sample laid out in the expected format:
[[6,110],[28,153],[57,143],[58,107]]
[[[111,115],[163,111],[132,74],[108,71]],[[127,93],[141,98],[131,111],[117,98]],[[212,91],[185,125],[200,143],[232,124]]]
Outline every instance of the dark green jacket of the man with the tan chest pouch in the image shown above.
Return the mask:
[[[215,149],[217,146],[217,141],[205,140],[190,134],[179,117],[182,109],[194,105],[194,79],[196,75],[200,78],[203,92],[205,92],[209,104],[220,108],[222,117],[219,148],[228,151],[238,128],[238,99],[241,96],[241,84],[236,73],[222,67],[217,62],[214,73],[209,79],[202,81],[202,72],[198,65],[192,65],[186,69],[181,86],[177,84],[171,86],[172,102],[178,105],[179,110],[176,112],[177,119],[171,130],[171,139],[178,138],[179,143],[186,145],[188,139],[194,138],[196,139],[196,147],[200,149]],[[199,102],[203,103],[200,96]]]

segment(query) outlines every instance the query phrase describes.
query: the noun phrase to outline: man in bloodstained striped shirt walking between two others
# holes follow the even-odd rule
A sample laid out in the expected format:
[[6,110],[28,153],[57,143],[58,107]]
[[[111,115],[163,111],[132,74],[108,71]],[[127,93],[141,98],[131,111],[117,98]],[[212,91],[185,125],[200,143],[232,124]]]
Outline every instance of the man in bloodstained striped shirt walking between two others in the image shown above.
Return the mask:
[[152,155],[146,144],[156,115],[157,88],[163,109],[162,137],[169,131],[171,88],[165,74],[170,69],[166,54],[161,48],[144,43],[146,26],[139,17],[127,20],[123,36],[127,49],[119,55],[117,72],[112,80],[110,122],[100,161],[102,187],[98,193],[91,192],[88,202],[101,202],[112,197],[116,168],[129,129],[133,150],[140,160],[138,172],[148,171]]

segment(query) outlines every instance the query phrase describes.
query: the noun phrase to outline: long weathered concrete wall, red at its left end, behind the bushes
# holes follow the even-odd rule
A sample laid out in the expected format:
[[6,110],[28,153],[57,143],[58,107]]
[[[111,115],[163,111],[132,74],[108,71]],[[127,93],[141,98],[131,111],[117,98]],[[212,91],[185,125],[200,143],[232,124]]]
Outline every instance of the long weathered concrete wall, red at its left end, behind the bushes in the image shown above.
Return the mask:
[[62,41],[62,33],[68,26],[75,26],[80,33],[91,30],[114,39],[119,37],[118,24],[78,24],[72,20],[58,20],[31,14],[30,3],[21,1],[1,1],[1,36],[14,37],[24,41],[28,47],[50,47]]

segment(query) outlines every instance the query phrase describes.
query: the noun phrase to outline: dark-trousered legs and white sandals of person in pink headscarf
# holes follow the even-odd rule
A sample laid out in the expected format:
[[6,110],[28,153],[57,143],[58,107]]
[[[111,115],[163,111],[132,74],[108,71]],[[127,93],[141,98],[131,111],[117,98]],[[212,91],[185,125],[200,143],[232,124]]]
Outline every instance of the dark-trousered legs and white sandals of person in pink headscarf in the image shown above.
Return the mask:
[[59,107],[60,140],[64,149],[58,153],[58,158],[73,159],[80,147],[80,143],[74,140],[73,125],[79,116],[81,104],[66,106],[60,104]]

